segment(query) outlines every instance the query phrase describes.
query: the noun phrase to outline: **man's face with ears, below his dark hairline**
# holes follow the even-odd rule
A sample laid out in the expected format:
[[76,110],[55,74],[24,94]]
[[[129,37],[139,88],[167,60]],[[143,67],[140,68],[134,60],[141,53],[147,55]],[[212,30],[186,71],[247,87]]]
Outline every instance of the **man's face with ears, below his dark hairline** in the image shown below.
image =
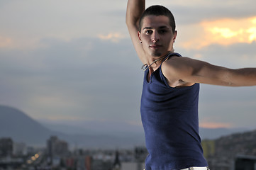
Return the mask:
[[177,33],[172,33],[167,16],[145,16],[138,33],[146,55],[162,57],[172,50]]

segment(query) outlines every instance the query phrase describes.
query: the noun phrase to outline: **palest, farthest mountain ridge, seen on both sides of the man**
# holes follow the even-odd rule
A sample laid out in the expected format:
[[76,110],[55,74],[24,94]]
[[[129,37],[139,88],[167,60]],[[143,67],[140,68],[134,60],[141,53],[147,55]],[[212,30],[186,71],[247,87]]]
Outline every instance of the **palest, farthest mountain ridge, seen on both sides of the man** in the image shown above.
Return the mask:
[[[132,135],[144,141],[142,125],[128,125],[128,123],[110,123],[99,121],[81,121],[79,123],[57,122],[49,120],[39,120],[46,127],[69,134],[112,134],[115,136]],[[235,132],[246,132],[245,128],[199,128],[201,140],[215,140],[218,137],[233,134]]]

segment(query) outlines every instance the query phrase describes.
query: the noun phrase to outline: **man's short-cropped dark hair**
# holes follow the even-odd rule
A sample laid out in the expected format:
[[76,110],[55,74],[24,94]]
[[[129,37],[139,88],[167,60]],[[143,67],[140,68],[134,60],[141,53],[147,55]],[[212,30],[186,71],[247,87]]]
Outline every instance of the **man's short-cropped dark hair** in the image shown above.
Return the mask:
[[143,26],[143,19],[145,16],[167,16],[169,18],[169,26],[172,27],[172,33],[174,33],[176,29],[176,24],[175,24],[175,19],[174,16],[172,15],[172,12],[169,11],[168,8],[165,6],[160,6],[160,5],[155,5],[155,6],[150,6],[148,7],[140,17],[140,22],[139,22],[139,31],[141,32],[141,27]]

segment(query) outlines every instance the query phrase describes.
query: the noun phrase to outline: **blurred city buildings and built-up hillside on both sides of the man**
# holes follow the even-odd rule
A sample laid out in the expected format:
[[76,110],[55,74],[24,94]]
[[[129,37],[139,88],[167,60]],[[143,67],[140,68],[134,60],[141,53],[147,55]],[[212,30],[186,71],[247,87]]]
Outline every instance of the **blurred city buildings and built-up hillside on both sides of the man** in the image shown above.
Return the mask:
[[[203,140],[201,145],[211,170],[256,170],[256,130]],[[147,155],[143,146],[71,150],[57,136],[50,136],[45,147],[0,138],[0,170],[142,170]]]

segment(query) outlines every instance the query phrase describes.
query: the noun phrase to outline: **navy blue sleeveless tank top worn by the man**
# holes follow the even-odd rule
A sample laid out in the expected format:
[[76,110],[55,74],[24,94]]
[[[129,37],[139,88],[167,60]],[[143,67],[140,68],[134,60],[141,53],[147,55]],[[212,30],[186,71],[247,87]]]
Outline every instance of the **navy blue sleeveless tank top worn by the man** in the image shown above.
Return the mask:
[[[171,56],[179,56],[172,53]],[[146,170],[208,166],[199,137],[199,84],[172,88],[160,67],[145,71],[140,113],[148,157]]]

